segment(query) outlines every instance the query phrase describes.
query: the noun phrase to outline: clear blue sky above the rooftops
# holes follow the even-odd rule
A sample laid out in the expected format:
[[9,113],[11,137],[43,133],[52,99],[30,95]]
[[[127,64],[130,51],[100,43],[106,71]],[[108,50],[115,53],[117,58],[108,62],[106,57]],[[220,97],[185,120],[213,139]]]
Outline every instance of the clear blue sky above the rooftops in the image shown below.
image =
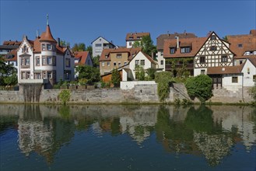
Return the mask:
[[6,1],[0,0],[0,41],[34,40],[37,30],[46,28],[49,15],[54,38],[86,46],[97,37],[125,45],[131,32],[195,33],[205,37],[215,31],[219,37],[247,34],[256,29],[256,0],[240,1]]

